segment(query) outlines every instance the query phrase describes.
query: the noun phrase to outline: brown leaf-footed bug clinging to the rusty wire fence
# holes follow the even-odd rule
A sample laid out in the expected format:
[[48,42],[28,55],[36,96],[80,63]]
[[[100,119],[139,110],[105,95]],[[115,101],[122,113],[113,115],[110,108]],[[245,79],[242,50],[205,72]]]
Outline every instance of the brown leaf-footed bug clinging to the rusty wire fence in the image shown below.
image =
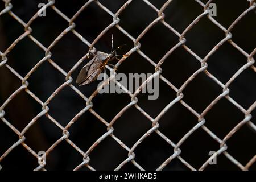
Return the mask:
[[[120,47],[122,46],[119,46],[118,48]],[[98,75],[100,75],[100,73],[104,70],[105,65],[108,64],[109,61],[117,59],[117,56],[122,56],[117,55],[117,49],[115,49],[114,51],[112,51],[112,49],[113,36],[111,53],[98,51],[95,55],[92,52],[89,52],[93,55],[93,59],[90,60],[87,64],[85,64],[85,66],[82,67],[81,71],[79,72],[79,75],[76,78],[76,83],[79,84],[79,86],[89,84],[90,82],[96,80]]]

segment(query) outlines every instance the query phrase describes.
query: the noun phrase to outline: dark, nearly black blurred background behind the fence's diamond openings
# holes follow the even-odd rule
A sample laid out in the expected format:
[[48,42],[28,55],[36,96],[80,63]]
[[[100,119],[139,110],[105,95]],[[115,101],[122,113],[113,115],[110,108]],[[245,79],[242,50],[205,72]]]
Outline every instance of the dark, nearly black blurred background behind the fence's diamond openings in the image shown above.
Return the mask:
[[[11,11],[27,23],[38,11],[38,4],[47,2],[43,0],[13,0],[11,1],[13,5]],[[56,0],[55,6],[68,18],[72,18],[85,2],[79,0]],[[126,1],[100,0],[99,2],[113,13],[116,13]],[[160,9],[166,1],[150,0],[150,2]],[[206,3],[207,1],[202,2]],[[228,28],[243,11],[249,8],[249,2],[246,0],[219,0],[213,2],[217,5],[217,16],[214,19],[225,28]],[[0,11],[3,9],[5,9],[5,3],[1,0]],[[166,22],[180,34],[201,13],[203,13],[203,7],[193,0],[174,0],[164,10]],[[131,2],[119,15],[121,19],[119,26],[129,32],[131,36],[137,38],[144,28],[157,17],[156,11],[145,2],[137,0]],[[250,11],[232,30],[232,40],[249,54],[255,48],[255,20],[255,11]],[[98,34],[112,21],[112,16],[93,2],[75,20],[75,30],[92,43]],[[44,47],[48,47],[68,27],[68,22],[54,10],[47,8],[46,17],[42,16],[35,19],[30,27],[32,28],[31,35],[42,43]],[[1,15],[0,51],[5,52],[14,40],[23,33],[24,27],[19,22],[8,13]],[[134,43],[127,36],[116,27],[113,27],[96,43],[95,47],[98,51],[110,52],[112,34],[114,35],[114,48],[126,44],[126,46],[118,50],[118,53],[125,54],[134,47]],[[188,31],[185,38],[187,39],[185,44],[203,59],[218,42],[225,38],[225,32],[205,16],[192,30]],[[162,23],[157,23],[140,40],[141,51],[155,63],[158,63],[178,42],[178,36]],[[69,72],[73,65],[88,52],[88,49],[89,47],[86,44],[72,32],[69,32],[51,49],[51,59],[63,68],[65,72]],[[24,77],[44,56],[45,52],[30,38],[26,37],[8,53],[7,64]],[[225,84],[238,69],[247,63],[247,57],[226,42],[216,53],[210,56],[207,63],[208,71]],[[84,64],[80,64],[79,68],[72,73],[72,84],[86,97],[89,97],[97,89],[99,81],[85,86],[75,84],[79,70]],[[162,75],[174,84],[176,88],[180,88],[189,76],[200,67],[201,64],[195,57],[185,51],[183,47],[179,47],[164,61],[161,68],[163,69]],[[117,73],[125,74],[154,72],[155,67],[137,52],[129,56],[117,70]],[[109,74],[109,71],[107,73]],[[21,86],[21,81],[5,65],[0,67],[0,77],[0,105],[2,105]],[[256,100],[255,78],[253,69],[248,68],[229,86],[229,96],[246,110]],[[65,76],[46,61],[32,73],[28,82],[28,89],[38,96],[41,101],[45,102],[65,82]],[[201,113],[221,93],[222,88],[216,82],[211,80],[205,73],[200,73],[184,89],[183,100],[197,113]],[[147,100],[147,94],[139,94],[138,105],[152,118],[155,118],[175,98],[176,92],[160,80],[159,98],[157,100]],[[110,122],[123,107],[130,103],[130,100],[131,98],[128,94],[98,94],[93,98],[93,109],[107,122]],[[65,127],[79,111],[84,109],[85,104],[79,94],[69,86],[66,86],[48,104],[49,114]],[[7,104],[4,110],[7,121],[15,126],[16,129],[22,131],[31,119],[42,111],[42,106],[23,90]],[[251,115],[251,121],[256,125],[256,111],[254,110]],[[220,139],[223,139],[243,118],[244,114],[236,106],[226,98],[222,98],[205,116],[205,126]],[[172,142],[177,143],[197,122],[198,119],[195,115],[183,105],[177,103],[160,119],[159,130]],[[113,127],[113,134],[131,148],[144,133],[151,129],[152,123],[135,107],[131,107],[114,123]],[[106,132],[106,125],[92,113],[86,111],[68,131],[70,133],[69,139],[86,152]],[[62,130],[46,116],[43,116],[30,127],[25,137],[25,143],[35,152],[47,151],[56,140],[62,137]],[[256,153],[255,137],[255,131],[244,125],[226,142],[229,154],[243,166]],[[0,120],[0,156],[17,141],[18,136]],[[220,144],[200,128],[181,145],[180,156],[191,166],[199,169],[209,158],[209,151],[217,151],[219,148]],[[134,152],[136,162],[144,169],[153,170],[158,168],[164,160],[174,153],[174,148],[160,138],[158,134],[153,133],[143,140]],[[107,137],[89,155],[89,164],[97,170],[113,170],[127,158],[127,154],[128,152],[119,146],[113,138]],[[47,156],[45,168],[47,170],[71,170],[81,162],[82,155],[67,142],[63,141]],[[19,145],[0,164],[3,170],[32,170],[38,166],[38,160],[26,148]],[[86,167],[81,169],[88,170]],[[131,170],[137,168],[133,164],[127,163],[122,169]],[[230,162],[224,154],[221,154],[217,158],[217,165],[209,165],[206,169],[238,170],[240,168]],[[250,170],[255,169],[256,164],[253,164]],[[179,159],[175,158],[164,170],[188,170],[188,168]]]

